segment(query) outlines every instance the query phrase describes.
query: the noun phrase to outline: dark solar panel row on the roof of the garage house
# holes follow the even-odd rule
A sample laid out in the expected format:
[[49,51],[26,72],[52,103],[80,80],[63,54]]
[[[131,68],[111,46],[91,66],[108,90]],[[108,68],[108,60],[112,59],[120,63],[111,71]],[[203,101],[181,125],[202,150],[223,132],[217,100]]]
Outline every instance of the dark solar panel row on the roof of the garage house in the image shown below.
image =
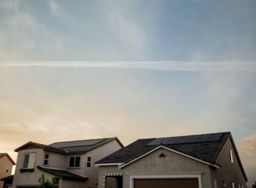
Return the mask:
[[164,145],[172,145],[184,143],[217,142],[221,139],[221,136],[223,136],[223,133],[156,138],[152,142],[147,144],[147,146],[160,145],[161,143],[163,143]]

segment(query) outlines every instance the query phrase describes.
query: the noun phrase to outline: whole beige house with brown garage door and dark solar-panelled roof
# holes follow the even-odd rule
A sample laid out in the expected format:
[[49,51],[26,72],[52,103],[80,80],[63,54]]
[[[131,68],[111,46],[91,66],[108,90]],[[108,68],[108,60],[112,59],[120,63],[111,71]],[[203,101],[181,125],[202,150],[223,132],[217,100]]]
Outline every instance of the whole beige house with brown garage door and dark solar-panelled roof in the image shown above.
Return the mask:
[[98,188],[246,187],[230,132],[139,139],[98,160]]

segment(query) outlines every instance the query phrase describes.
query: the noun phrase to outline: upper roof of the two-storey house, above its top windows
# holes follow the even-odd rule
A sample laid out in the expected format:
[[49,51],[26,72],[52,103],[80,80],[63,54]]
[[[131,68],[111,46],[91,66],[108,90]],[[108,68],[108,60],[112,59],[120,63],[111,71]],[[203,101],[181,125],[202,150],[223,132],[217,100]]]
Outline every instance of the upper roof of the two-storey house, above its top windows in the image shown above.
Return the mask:
[[117,140],[118,143],[123,147],[120,140],[117,137],[112,138],[98,138],[98,139],[90,139],[90,140],[75,140],[75,141],[66,141],[66,142],[58,142],[53,143],[51,145],[43,145],[40,143],[28,142],[21,147],[15,149],[15,152],[19,152],[19,150],[25,149],[27,147],[35,147],[42,148],[49,152],[57,152],[60,154],[82,154],[89,152],[91,149],[95,149],[104,145],[105,143],[109,143],[111,140]]

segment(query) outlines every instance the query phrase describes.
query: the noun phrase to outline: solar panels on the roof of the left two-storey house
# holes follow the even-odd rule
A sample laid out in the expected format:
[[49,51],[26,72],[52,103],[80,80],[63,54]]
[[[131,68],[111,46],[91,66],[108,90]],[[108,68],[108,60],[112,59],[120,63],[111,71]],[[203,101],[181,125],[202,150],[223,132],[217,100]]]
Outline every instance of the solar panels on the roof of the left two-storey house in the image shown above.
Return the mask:
[[104,139],[61,142],[61,143],[53,143],[53,144],[51,144],[51,146],[53,146],[53,147],[77,147],[77,146],[85,146],[85,145],[95,145],[97,143],[100,143],[102,140],[104,140]]

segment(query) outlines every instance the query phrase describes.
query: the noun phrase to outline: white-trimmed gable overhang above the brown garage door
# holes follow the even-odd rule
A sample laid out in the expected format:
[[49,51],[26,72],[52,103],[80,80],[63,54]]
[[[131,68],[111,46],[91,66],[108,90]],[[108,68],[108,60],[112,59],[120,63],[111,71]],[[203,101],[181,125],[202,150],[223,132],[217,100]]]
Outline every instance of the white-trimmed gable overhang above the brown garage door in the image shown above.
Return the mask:
[[[183,154],[183,153],[181,153],[181,152],[178,152],[178,151],[176,151],[176,150],[174,150],[174,149],[170,149],[169,147],[165,147],[165,146],[163,146],[163,145],[160,145],[160,146],[158,146],[158,147],[155,147],[154,149],[150,150],[149,152],[147,152],[147,153],[145,153],[145,154],[143,154],[143,155],[141,155],[141,156],[138,156],[137,158],[134,158],[133,160],[130,160],[128,163],[123,163],[122,165],[119,165],[118,168],[119,168],[119,169],[122,169],[122,168],[126,167],[127,165],[130,165],[131,163],[134,163],[136,160],[138,160],[138,159],[140,159],[140,158],[143,158],[144,156],[147,156],[148,154],[151,154],[152,152],[154,152],[154,151],[156,151],[156,150],[158,150],[158,149],[161,149],[161,148],[167,149],[168,151],[174,152],[174,153],[176,153],[176,154],[180,154],[181,156],[185,156],[185,157],[188,157],[188,158],[192,158],[193,160],[199,161],[200,163],[204,163],[204,164],[210,165],[210,166],[212,166],[212,167],[220,168],[219,165],[208,163],[208,162],[203,161],[203,160],[201,160],[201,159],[199,159],[199,158],[194,158],[194,157],[192,157],[192,156],[189,156],[189,155],[187,155],[187,154]],[[114,163],[112,163],[112,164],[114,164]],[[99,164],[99,165],[100,165],[100,164]]]

